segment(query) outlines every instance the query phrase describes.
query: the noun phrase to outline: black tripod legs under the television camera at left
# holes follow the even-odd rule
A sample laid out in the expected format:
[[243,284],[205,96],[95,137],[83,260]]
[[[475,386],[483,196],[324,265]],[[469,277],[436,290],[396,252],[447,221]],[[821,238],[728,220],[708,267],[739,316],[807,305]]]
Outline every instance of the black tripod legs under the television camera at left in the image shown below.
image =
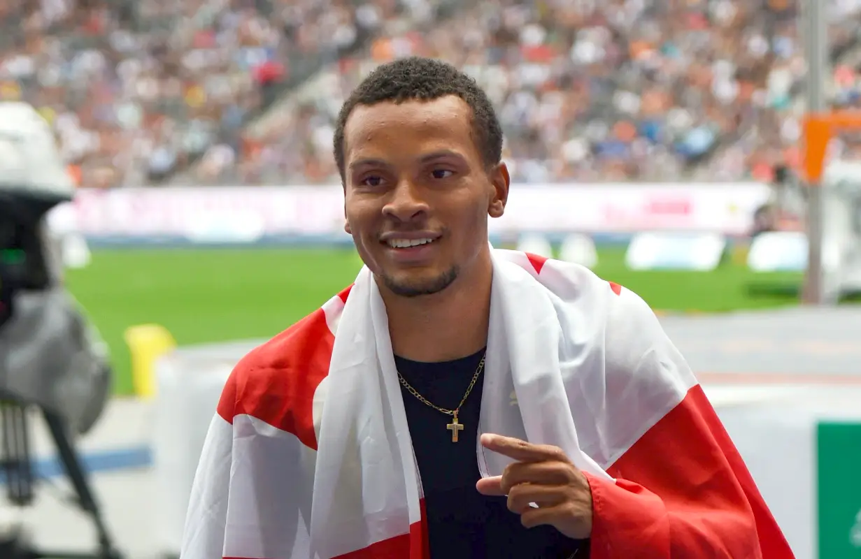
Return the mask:
[[[5,395],[4,395],[5,396]],[[0,472],[6,477],[7,498],[15,507],[28,507],[34,501],[33,459],[30,456],[29,411],[31,407],[22,402],[5,399],[0,402],[0,422],[2,422],[2,446],[0,446]],[[3,559],[121,559],[115,549],[108,529],[102,520],[96,499],[90,488],[90,481],[84,465],[69,437],[65,422],[45,408],[39,408],[45,418],[51,438],[77,497],[77,506],[96,526],[98,544],[93,553],[65,552],[61,550],[37,550],[25,537],[13,535],[7,541],[0,541],[0,557]]]

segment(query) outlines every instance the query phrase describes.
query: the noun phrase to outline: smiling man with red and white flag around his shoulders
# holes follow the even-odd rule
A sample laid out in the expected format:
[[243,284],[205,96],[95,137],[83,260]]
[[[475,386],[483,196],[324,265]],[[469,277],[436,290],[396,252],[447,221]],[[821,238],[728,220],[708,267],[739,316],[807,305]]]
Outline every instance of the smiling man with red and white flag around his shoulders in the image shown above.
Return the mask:
[[366,267],[237,365],[183,559],[792,556],[646,304],[489,247],[501,149],[448,64],[350,95],[334,152]]

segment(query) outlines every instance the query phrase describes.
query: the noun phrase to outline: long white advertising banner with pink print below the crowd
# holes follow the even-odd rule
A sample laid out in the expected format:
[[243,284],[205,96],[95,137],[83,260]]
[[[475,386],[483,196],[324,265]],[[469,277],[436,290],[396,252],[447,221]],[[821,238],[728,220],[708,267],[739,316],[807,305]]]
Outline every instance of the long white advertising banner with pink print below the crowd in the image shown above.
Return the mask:
[[[505,216],[491,221],[491,233],[744,235],[769,194],[759,183],[514,185]],[[82,189],[50,218],[54,229],[88,237],[250,242],[346,235],[339,186]]]

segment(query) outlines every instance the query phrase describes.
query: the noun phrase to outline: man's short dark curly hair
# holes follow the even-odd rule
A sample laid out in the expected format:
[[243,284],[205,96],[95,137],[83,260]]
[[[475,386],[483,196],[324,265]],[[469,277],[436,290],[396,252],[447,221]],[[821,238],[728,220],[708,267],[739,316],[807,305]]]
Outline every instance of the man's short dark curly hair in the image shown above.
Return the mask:
[[502,159],[502,127],[487,94],[472,77],[455,66],[434,58],[400,58],[381,64],[372,71],[344,101],[335,127],[335,163],[345,181],[344,125],[358,105],[374,105],[383,101],[431,101],[447,95],[457,95],[473,111],[473,137],[486,168]]

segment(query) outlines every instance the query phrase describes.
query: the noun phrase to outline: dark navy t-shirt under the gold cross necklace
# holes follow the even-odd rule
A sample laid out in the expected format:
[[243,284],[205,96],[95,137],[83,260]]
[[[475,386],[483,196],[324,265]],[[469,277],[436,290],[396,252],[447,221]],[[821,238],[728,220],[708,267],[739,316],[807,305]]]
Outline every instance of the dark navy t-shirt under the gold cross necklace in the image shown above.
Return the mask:
[[[442,408],[454,409],[478,367],[482,350],[445,363],[419,363],[395,357],[401,376],[419,394]],[[567,559],[588,557],[588,540],[570,539],[553,526],[527,530],[506,507],[505,497],[486,497],[475,489],[483,375],[458,415],[464,426],[452,442],[451,416],[419,402],[401,385],[412,446],[424,488],[428,537],[433,559]]]

